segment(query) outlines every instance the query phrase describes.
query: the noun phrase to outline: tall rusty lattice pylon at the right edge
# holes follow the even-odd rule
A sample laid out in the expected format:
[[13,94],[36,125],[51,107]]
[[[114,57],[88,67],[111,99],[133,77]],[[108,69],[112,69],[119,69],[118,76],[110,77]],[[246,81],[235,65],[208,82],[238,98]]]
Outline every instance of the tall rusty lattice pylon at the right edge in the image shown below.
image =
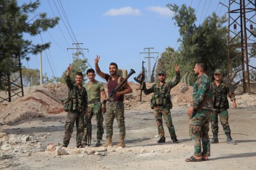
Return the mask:
[[[222,4],[222,3],[221,3]],[[228,82],[229,84],[238,84],[242,81],[243,93],[251,94],[250,71],[256,69],[256,66],[250,64],[250,58],[255,58],[255,54],[251,53],[251,49],[256,46],[256,1],[255,0],[229,0],[229,34],[228,34]],[[236,40],[240,40],[240,42]],[[231,56],[231,49],[237,50],[236,56]],[[233,54],[234,55],[234,54]],[[231,69],[236,64],[236,69]],[[240,73],[242,79],[234,80],[231,74]]]

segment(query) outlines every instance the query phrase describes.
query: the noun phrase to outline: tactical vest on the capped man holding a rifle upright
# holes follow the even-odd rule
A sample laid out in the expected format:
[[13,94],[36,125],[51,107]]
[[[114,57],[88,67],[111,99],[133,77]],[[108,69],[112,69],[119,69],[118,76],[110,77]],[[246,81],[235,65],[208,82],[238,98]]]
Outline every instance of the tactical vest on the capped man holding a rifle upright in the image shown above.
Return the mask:
[[170,86],[168,83],[164,82],[163,86],[160,87],[159,83],[154,86],[154,95],[152,96],[150,107],[154,109],[157,106],[164,106],[167,108],[172,108]]

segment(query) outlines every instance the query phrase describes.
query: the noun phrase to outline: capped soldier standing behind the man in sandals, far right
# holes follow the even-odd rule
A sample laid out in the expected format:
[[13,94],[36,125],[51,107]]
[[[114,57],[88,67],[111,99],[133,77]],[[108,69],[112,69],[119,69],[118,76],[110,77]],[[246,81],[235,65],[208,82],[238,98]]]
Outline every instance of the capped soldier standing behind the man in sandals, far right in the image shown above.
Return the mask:
[[213,138],[210,143],[218,143],[218,115],[220,115],[220,122],[223,127],[223,130],[226,134],[226,142],[232,143],[236,145],[236,141],[233,141],[230,135],[230,128],[229,128],[229,101],[233,102],[233,108],[237,108],[236,98],[232,90],[230,90],[228,84],[222,82],[222,70],[217,69],[214,71],[214,80],[212,82],[213,86],[213,112],[210,114],[210,123],[212,124],[212,133]]

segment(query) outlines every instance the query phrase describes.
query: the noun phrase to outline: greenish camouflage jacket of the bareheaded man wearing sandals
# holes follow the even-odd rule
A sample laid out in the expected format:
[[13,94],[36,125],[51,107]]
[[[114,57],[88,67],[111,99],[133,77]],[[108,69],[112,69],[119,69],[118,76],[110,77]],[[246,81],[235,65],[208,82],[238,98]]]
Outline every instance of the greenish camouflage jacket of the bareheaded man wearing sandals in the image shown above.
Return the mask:
[[200,75],[193,86],[193,101],[191,106],[195,109],[213,109],[212,84],[206,74]]

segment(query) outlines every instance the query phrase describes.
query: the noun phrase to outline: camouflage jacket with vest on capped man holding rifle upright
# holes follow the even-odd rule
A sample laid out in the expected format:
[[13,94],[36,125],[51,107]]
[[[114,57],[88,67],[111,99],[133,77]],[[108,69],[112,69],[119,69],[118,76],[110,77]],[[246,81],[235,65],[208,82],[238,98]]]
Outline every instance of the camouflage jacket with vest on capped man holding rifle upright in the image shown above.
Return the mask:
[[154,109],[156,106],[163,106],[169,109],[172,108],[172,101],[171,101],[171,88],[175,87],[180,82],[180,72],[176,73],[176,77],[174,82],[164,82],[161,86],[160,83],[153,84],[151,88],[146,88],[146,84],[143,86],[143,92],[145,95],[151,94],[154,92],[154,95],[151,99],[151,109]]

